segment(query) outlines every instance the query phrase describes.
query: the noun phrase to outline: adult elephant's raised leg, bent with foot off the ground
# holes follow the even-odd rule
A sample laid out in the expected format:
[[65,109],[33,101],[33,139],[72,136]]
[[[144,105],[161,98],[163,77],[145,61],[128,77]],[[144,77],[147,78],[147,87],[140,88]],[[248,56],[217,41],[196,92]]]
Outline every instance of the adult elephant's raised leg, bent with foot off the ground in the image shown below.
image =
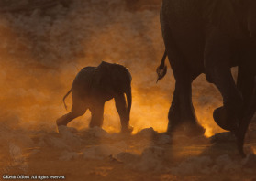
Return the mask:
[[228,37],[217,27],[208,27],[205,46],[206,80],[214,83],[223,97],[223,107],[214,111],[214,120],[223,129],[235,132],[242,97],[231,74],[230,53]]

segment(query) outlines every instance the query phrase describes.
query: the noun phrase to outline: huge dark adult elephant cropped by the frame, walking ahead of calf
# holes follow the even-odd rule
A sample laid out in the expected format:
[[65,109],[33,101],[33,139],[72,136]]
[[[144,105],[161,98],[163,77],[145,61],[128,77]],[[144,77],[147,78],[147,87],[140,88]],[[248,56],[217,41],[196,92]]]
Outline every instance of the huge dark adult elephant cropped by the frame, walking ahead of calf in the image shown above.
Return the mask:
[[[256,73],[256,1],[163,0],[161,30],[166,52],[157,69],[166,72],[168,56],[176,80],[169,111],[168,132],[184,127],[190,135],[202,134],[192,104],[191,84],[201,73],[214,83],[223,106],[214,112],[217,124],[237,135],[240,120],[250,105]],[[230,68],[238,66],[235,83]],[[185,125],[185,126],[184,126]]]

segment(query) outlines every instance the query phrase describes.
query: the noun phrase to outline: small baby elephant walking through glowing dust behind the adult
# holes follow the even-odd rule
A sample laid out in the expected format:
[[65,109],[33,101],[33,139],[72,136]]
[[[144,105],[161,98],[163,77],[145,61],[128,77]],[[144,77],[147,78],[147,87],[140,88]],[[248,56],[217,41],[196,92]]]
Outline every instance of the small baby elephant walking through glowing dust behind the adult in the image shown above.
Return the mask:
[[[85,67],[72,82],[72,111],[63,115],[57,125],[67,125],[74,118],[82,116],[89,109],[92,112],[90,127],[102,127],[104,104],[115,99],[117,112],[121,122],[121,132],[131,133],[129,125],[131,108],[131,75],[124,66],[103,61],[98,67]],[[126,94],[126,96],[125,96]]]

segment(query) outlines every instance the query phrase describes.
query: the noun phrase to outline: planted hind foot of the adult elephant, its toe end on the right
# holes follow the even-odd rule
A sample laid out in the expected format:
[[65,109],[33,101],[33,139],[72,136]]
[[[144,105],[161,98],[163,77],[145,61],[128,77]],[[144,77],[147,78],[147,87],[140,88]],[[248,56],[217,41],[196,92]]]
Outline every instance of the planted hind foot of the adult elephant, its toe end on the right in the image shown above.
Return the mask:
[[197,122],[187,123],[184,126],[184,133],[189,137],[202,136],[205,134],[205,132],[206,129]]

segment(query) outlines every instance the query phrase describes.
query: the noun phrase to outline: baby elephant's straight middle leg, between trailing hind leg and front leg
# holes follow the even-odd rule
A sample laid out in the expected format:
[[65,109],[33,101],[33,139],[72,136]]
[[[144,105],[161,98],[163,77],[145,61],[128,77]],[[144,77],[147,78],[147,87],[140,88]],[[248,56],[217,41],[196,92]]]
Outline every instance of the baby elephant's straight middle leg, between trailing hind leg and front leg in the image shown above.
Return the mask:
[[92,118],[89,124],[90,128],[95,126],[100,128],[102,127],[104,119],[104,105],[104,101],[95,101],[93,103],[92,108],[90,108],[90,111],[92,112]]

